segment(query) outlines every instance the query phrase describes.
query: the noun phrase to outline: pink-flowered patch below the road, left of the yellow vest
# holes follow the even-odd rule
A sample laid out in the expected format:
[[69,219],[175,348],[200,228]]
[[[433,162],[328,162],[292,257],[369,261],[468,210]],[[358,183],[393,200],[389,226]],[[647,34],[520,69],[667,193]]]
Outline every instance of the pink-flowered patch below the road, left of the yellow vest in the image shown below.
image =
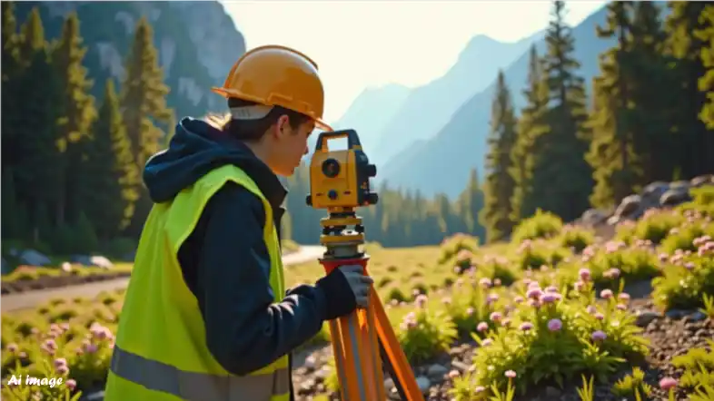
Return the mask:
[[[74,400],[104,386],[121,302],[115,294],[99,299],[96,303],[56,299],[33,314],[3,318],[5,399]],[[55,387],[8,386],[13,375],[62,377],[63,383]]]

